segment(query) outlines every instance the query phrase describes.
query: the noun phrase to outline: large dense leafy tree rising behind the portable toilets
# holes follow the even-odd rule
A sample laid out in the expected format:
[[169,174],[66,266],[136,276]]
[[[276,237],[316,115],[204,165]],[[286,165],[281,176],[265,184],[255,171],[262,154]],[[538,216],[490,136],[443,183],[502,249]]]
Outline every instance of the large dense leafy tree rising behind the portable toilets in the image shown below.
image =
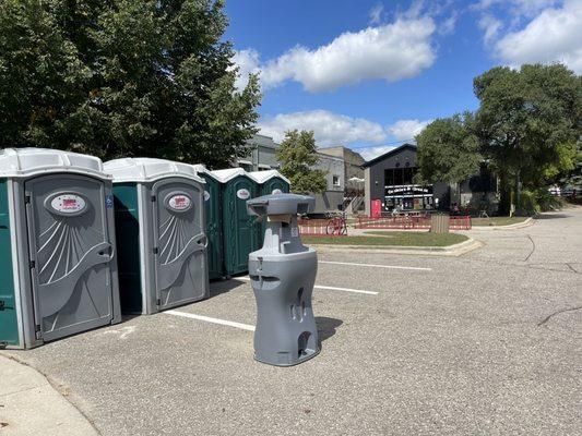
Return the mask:
[[238,74],[223,0],[2,0],[0,147],[226,166],[248,153],[258,77]]

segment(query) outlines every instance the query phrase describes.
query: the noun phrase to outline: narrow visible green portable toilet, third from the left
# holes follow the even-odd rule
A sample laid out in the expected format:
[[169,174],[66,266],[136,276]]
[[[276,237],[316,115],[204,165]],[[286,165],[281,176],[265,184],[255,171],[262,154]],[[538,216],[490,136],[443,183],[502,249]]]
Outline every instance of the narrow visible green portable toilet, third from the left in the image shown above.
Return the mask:
[[206,222],[206,255],[209,259],[209,278],[224,277],[223,259],[223,216],[221,203],[221,182],[203,165],[194,165],[194,169],[206,182],[204,186],[204,215]]

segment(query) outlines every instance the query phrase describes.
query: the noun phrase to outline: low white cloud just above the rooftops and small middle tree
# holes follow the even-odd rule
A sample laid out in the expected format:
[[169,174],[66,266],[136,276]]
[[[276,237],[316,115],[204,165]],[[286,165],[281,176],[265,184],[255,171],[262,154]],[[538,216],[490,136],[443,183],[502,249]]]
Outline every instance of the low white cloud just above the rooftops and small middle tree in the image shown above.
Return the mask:
[[275,142],[284,138],[288,130],[312,130],[318,146],[347,145],[356,142],[378,144],[387,140],[387,132],[378,123],[352,118],[326,110],[280,113],[266,117],[259,123],[261,134]]

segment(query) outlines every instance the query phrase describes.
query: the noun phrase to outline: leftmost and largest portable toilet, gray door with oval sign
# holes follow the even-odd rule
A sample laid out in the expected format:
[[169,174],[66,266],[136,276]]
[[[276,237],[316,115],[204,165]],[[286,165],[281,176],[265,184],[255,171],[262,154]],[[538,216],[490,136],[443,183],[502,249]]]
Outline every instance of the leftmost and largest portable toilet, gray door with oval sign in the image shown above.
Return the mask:
[[0,150],[0,344],[119,323],[111,178],[92,156]]

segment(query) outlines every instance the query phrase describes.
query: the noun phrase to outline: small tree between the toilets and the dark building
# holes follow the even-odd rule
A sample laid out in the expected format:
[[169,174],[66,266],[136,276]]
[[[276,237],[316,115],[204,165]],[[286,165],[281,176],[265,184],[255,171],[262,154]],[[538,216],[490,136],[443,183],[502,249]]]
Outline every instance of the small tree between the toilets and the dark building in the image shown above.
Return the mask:
[[292,130],[277,152],[281,173],[289,179],[292,190],[298,194],[322,193],[328,187],[325,172],[311,167],[319,161],[313,132]]

